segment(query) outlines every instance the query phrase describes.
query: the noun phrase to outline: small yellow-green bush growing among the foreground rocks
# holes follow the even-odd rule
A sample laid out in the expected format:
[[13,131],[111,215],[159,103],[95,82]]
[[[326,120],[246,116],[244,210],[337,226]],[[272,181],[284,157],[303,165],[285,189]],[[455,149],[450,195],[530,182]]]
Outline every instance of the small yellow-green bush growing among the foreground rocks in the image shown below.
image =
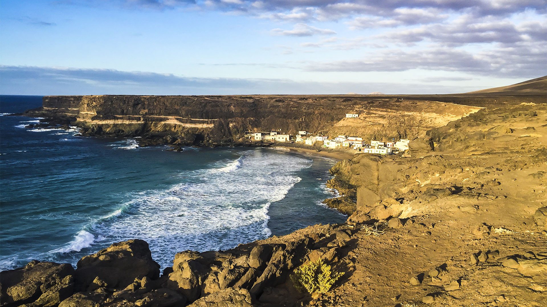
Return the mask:
[[290,275],[290,280],[293,281],[294,287],[299,291],[305,288],[310,294],[327,293],[342,275],[344,273],[334,271],[330,265],[319,259],[316,262],[300,265]]

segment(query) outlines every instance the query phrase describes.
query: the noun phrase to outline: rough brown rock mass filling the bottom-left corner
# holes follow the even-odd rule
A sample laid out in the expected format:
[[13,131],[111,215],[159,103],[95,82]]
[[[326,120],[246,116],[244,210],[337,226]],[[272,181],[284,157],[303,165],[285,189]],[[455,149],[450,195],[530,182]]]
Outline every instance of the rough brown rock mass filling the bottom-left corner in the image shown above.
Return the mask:
[[2,306],[56,306],[71,296],[74,269],[70,264],[32,261],[24,268],[2,271]]

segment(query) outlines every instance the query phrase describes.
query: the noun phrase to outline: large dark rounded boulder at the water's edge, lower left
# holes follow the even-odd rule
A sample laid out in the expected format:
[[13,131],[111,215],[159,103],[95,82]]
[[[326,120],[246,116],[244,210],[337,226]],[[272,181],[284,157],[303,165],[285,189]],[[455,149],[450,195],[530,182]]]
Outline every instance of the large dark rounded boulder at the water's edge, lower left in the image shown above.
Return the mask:
[[152,259],[146,241],[128,240],[80,259],[75,281],[79,291],[97,287],[123,289],[145,276],[158,279],[160,265]]

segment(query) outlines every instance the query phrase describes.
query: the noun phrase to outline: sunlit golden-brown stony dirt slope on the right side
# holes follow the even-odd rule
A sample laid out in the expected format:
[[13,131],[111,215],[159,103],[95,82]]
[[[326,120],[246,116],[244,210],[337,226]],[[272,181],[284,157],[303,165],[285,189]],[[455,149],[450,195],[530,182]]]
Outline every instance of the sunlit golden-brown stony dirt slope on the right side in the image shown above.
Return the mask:
[[[287,281],[280,288],[290,296],[263,306],[547,306],[547,226],[533,217],[547,205],[547,106],[519,108],[537,115],[478,116],[469,121],[470,133],[500,124],[511,132],[465,139],[463,149],[430,152],[412,162],[437,156],[429,159],[435,169],[440,164],[434,161],[449,161],[458,172],[418,177],[464,192],[424,200],[423,191],[416,191],[417,198],[398,204],[405,210],[395,228],[389,219],[377,222],[376,232],[370,222],[340,226],[356,232],[341,249],[346,273],[333,289],[312,298]],[[306,229],[289,236],[313,228]]]

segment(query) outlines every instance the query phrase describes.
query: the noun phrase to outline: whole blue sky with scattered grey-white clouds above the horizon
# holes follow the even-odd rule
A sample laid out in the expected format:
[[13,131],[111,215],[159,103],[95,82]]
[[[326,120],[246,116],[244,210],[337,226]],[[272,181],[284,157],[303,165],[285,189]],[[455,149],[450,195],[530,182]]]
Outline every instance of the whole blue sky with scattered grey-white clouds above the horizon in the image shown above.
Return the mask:
[[546,50],[547,0],[0,0],[4,95],[459,93]]

